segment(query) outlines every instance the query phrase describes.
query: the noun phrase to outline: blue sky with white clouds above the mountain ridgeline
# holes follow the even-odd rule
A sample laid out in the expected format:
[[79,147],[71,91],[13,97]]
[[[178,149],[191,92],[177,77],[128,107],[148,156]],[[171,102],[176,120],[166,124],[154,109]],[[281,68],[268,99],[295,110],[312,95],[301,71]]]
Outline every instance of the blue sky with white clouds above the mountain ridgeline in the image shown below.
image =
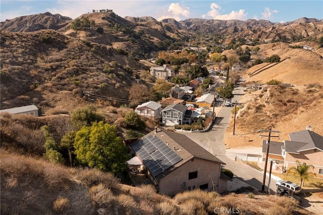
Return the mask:
[[157,20],[189,18],[289,22],[301,17],[323,19],[323,1],[0,1],[0,21],[50,12],[73,19],[93,9],[112,9],[121,17],[151,16]]

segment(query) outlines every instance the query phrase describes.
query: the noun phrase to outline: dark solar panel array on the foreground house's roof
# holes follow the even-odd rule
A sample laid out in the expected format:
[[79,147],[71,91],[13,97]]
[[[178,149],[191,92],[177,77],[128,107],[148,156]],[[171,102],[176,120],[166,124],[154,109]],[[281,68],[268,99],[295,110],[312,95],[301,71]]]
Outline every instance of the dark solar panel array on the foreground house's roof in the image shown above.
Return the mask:
[[183,159],[162,140],[151,135],[130,146],[153,176],[157,176]]

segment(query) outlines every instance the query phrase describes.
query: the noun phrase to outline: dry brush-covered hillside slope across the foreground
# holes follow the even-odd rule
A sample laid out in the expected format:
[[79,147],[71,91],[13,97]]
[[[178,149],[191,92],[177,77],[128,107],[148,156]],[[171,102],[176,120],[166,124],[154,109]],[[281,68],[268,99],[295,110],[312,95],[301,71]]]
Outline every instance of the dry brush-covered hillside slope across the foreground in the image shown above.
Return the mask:
[[67,169],[6,150],[1,157],[1,214],[217,214],[216,208],[241,214],[311,214],[287,197],[256,191],[252,197],[193,190],[170,198],[149,185],[120,184],[97,170]]

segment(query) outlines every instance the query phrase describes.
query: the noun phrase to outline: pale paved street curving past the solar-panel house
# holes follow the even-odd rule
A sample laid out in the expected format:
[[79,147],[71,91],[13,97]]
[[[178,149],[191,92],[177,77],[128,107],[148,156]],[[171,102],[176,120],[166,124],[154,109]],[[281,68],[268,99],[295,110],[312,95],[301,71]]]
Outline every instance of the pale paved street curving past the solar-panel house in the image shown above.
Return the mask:
[[[234,97],[234,99],[236,99],[238,102],[240,100],[241,95],[239,94],[241,93],[241,90],[242,87],[239,87],[238,90],[234,91],[234,93],[238,92],[238,94],[236,94]],[[231,170],[235,174],[235,177],[237,179],[240,179],[241,181],[255,187],[256,189],[261,190],[263,173],[243,163],[237,162],[226,155],[223,140],[231,119],[231,110],[232,107],[221,108],[217,113],[216,122],[209,131],[185,134],[195,142],[200,144],[202,147],[204,147],[206,150],[208,150],[210,153],[223,160],[223,162],[226,163],[224,168]],[[266,177],[266,179],[268,179],[268,176]],[[265,184],[268,183],[267,181],[268,180],[266,180]],[[265,186],[265,190],[267,190],[267,186]],[[274,191],[276,191],[276,179],[272,178],[271,192]]]

